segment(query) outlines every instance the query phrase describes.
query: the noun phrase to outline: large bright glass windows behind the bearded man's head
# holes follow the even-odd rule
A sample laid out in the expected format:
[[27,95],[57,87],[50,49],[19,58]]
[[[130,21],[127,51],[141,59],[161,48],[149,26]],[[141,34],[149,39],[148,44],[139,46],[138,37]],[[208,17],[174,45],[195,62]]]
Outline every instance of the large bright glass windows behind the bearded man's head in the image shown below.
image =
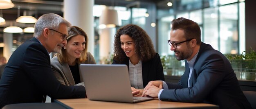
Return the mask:
[[[178,17],[197,22],[201,28],[201,40],[223,54],[240,54],[245,50],[245,0],[174,0],[169,11],[160,9],[157,52],[162,58],[174,54],[166,41],[170,38],[170,23]],[[165,74],[169,75],[168,68],[165,69]],[[172,76],[173,72],[175,70],[172,70]]]

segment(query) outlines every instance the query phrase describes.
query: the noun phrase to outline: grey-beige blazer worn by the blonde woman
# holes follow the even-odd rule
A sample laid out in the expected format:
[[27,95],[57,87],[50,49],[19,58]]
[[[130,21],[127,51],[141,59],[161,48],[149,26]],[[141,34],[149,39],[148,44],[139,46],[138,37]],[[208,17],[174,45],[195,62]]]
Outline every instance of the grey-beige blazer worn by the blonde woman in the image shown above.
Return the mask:
[[[96,64],[96,62],[92,54],[90,52],[87,52],[87,60],[82,63],[79,63],[79,65],[80,64]],[[75,85],[74,78],[70,71],[70,67],[68,66],[67,63],[61,64],[58,61],[57,56],[55,56],[51,59],[51,67],[55,77],[57,78],[58,81],[61,82],[61,84],[67,85],[67,86]],[[81,82],[83,82],[80,66],[79,66],[79,73],[80,73],[80,80]]]

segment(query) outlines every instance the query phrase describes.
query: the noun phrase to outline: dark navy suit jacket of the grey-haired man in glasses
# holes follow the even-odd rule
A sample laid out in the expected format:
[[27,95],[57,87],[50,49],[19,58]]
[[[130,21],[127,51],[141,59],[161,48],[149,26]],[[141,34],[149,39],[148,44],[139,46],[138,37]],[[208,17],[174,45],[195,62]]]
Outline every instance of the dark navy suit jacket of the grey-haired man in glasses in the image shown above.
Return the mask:
[[0,108],[25,102],[53,99],[85,98],[85,87],[66,86],[54,76],[50,57],[43,45],[33,37],[11,55],[0,80]]

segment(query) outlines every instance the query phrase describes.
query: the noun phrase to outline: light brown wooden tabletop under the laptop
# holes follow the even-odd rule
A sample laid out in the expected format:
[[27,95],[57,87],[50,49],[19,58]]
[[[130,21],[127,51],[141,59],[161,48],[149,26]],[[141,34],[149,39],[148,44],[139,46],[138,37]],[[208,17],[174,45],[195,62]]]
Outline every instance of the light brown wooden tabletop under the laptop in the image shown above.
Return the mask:
[[73,109],[218,109],[217,105],[206,103],[186,103],[186,102],[169,102],[160,101],[158,99],[137,102],[137,103],[122,103],[122,102],[106,102],[94,101],[87,98],[79,99],[58,99],[54,100],[64,107]]

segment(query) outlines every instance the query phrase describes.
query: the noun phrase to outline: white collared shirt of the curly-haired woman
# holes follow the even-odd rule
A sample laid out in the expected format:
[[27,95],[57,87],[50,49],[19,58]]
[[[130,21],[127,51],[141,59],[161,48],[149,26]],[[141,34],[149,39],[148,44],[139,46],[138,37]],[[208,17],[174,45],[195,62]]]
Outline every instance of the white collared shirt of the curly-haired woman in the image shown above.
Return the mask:
[[142,63],[139,61],[138,64],[133,65],[129,59],[129,76],[131,86],[136,89],[143,89],[143,80],[142,80]]

